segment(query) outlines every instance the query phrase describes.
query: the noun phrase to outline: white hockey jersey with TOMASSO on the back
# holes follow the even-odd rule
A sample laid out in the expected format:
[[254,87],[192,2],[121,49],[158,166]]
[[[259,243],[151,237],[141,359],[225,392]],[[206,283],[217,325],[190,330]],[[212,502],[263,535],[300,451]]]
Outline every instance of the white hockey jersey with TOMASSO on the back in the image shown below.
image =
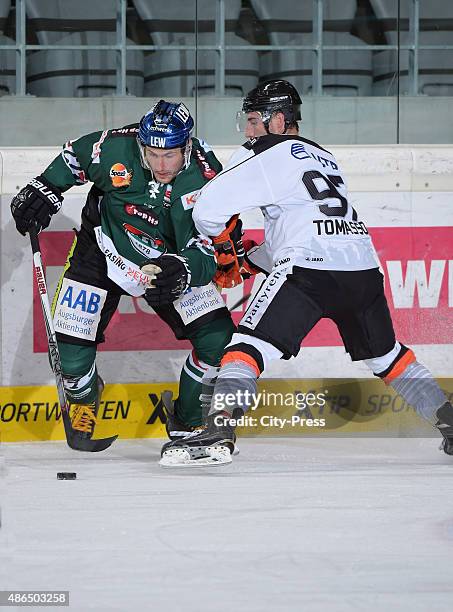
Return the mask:
[[368,230],[348,202],[335,157],[293,135],[269,134],[246,142],[197,197],[193,219],[217,236],[237,213],[259,207],[265,244],[280,261],[318,270],[379,266]]

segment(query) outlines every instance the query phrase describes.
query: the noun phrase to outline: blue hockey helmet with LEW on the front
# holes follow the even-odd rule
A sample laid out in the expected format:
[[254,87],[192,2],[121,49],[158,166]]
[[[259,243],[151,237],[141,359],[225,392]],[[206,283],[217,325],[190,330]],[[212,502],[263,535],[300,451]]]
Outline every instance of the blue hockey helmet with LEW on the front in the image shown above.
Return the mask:
[[183,104],[159,100],[140,121],[140,144],[160,149],[186,146],[192,135],[193,119]]

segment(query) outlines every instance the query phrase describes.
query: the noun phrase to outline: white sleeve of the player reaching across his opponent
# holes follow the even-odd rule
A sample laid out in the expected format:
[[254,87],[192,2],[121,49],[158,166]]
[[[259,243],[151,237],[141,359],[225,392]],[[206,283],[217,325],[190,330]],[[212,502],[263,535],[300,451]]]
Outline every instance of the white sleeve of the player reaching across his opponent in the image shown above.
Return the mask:
[[204,236],[218,236],[233,215],[274,201],[259,156],[247,151],[242,159],[235,159],[236,163],[207,183],[197,198],[193,219]]

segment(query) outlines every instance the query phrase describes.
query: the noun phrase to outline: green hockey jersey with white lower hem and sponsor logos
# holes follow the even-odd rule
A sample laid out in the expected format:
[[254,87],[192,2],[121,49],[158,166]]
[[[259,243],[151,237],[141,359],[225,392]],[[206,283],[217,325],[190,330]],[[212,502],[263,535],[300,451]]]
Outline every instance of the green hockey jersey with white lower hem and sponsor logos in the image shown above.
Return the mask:
[[90,217],[108,276],[127,293],[143,294],[149,279],[140,267],[163,253],[186,257],[191,286],[206,285],[215,273],[214,251],[198,235],[192,209],[221,164],[205,142],[193,138],[189,166],[171,183],[158,183],[145,167],[137,134],[133,125],[69,141],[43,175],[63,192],[89,181],[102,192],[95,214],[82,214],[82,225]]

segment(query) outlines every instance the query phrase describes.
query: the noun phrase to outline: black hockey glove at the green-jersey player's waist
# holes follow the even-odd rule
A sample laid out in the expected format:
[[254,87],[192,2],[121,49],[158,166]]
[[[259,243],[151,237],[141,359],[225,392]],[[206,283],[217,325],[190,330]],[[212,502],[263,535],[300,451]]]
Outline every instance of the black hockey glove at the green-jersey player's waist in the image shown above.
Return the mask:
[[191,273],[187,259],[180,255],[168,254],[151,259],[142,267],[142,271],[152,278],[151,287],[143,296],[152,307],[171,304],[190,284]]

